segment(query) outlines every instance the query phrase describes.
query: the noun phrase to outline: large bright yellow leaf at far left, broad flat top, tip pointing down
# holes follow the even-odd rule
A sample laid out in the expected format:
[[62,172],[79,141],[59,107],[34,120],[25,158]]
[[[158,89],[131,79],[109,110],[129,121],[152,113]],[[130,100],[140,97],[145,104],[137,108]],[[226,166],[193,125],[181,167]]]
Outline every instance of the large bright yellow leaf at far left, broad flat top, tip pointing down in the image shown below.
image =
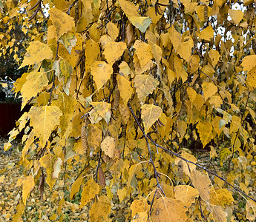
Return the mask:
[[35,129],[35,135],[42,144],[48,140],[50,133],[59,125],[59,118],[62,111],[56,106],[32,107],[28,114],[30,124]]

